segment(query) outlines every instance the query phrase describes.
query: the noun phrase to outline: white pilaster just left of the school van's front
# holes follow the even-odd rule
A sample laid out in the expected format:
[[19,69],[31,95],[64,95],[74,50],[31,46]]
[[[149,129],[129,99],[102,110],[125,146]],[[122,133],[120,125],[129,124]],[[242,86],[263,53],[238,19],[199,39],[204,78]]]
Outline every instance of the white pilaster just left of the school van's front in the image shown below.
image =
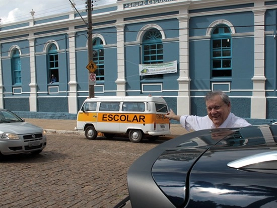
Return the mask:
[[70,81],[68,82],[68,113],[78,112],[77,81],[76,81],[76,51],[75,51],[75,32],[68,33],[69,42],[69,62],[70,62]]

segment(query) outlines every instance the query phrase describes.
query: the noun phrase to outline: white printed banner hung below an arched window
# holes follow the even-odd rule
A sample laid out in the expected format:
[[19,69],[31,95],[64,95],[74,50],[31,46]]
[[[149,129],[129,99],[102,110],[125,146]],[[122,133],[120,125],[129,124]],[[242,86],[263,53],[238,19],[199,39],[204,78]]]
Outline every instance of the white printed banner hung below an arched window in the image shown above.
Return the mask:
[[140,76],[176,73],[177,60],[156,64],[140,64],[138,69],[140,70]]

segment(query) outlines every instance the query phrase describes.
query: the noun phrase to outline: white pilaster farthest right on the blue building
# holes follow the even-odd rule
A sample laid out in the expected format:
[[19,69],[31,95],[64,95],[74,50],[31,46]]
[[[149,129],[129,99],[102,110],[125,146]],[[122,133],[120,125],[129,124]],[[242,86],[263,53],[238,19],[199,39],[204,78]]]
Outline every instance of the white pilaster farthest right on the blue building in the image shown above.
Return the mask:
[[[255,8],[262,5],[257,3]],[[251,118],[266,118],[264,76],[264,9],[254,10],[254,76],[251,97]]]

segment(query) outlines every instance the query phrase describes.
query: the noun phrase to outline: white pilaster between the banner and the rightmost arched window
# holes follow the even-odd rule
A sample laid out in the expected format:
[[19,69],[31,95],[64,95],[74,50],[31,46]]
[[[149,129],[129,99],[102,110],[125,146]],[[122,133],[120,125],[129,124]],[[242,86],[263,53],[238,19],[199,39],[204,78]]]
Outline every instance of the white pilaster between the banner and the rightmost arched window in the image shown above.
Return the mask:
[[188,40],[188,13],[187,8],[179,11],[182,16],[179,20],[179,71],[180,75],[177,79],[179,83],[178,97],[177,97],[177,114],[190,115],[190,94],[189,85],[191,79],[189,78],[189,40]]

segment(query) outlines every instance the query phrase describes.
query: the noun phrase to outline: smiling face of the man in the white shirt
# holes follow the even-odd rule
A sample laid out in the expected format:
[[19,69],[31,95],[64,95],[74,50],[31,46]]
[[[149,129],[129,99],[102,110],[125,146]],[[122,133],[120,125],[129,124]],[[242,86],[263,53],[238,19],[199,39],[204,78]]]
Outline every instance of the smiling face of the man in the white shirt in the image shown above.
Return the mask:
[[228,117],[231,104],[225,104],[219,95],[206,101],[207,114],[218,128]]

